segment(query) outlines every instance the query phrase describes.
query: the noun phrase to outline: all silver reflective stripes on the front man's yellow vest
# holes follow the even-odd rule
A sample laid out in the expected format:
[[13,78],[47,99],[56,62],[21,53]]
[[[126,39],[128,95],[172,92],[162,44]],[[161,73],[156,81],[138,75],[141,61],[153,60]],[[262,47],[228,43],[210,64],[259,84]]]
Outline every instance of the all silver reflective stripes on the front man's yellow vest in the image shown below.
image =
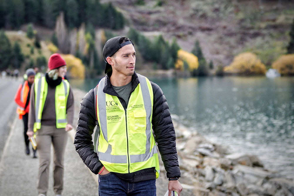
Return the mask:
[[[137,163],[143,162],[151,158],[153,154],[157,153],[156,146],[153,146],[150,150],[150,137],[151,137],[151,123],[150,118],[152,114],[152,103],[149,94],[149,89],[147,85],[147,81],[144,76],[138,74],[141,91],[143,95],[143,102],[145,105],[146,110],[146,152],[140,155],[130,155],[130,162]],[[103,88],[105,85],[105,78],[102,78],[98,85],[98,109],[99,109],[99,120],[100,120],[100,127],[104,136],[104,139],[108,142],[107,138],[107,122],[106,122],[106,94],[103,92]],[[126,155],[111,155],[111,145],[108,144],[108,148],[105,153],[98,152],[99,160],[107,161],[110,163],[127,163],[127,156]]]

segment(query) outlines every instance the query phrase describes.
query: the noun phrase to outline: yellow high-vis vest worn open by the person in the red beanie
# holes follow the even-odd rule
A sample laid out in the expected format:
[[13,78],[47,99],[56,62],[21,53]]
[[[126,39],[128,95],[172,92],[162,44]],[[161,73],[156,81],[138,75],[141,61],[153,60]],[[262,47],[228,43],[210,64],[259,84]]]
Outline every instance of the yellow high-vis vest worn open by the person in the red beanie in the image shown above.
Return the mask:
[[[48,92],[45,77],[35,79],[35,115],[34,132],[41,128],[41,118]],[[66,103],[69,96],[69,82],[62,80],[55,89],[56,128],[65,128],[67,124]]]

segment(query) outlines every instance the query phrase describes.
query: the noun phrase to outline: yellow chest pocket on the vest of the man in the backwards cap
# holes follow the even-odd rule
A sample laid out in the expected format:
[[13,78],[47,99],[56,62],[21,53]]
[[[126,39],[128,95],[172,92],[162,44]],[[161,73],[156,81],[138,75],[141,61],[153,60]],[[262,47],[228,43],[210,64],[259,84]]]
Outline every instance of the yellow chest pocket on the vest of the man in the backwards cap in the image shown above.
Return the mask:
[[134,110],[130,113],[129,118],[130,133],[146,132],[146,110]]

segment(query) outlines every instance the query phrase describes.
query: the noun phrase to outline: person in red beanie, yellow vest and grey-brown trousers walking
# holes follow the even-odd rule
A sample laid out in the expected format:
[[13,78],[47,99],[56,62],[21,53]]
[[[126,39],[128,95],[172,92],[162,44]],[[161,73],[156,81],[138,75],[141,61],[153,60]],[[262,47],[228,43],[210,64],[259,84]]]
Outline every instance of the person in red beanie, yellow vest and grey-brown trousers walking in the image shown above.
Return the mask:
[[32,85],[27,135],[36,134],[39,155],[38,193],[46,196],[49,181],[51,143],[54,149],[53,188],[61,195],[64,176],[64,152],[74,117],[74,97],[68,81],[63,80],[66,62],[52,54],[45,76]]

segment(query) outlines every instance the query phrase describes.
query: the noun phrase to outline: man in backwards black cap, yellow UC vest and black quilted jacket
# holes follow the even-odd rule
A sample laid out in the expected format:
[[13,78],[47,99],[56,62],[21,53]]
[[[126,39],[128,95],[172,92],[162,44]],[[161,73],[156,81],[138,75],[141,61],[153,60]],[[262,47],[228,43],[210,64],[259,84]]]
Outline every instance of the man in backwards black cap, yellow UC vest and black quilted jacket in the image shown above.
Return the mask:
[[157,147],[169,195],[180,195],[176,134],[163,92],[134,72],[130,39],[109,39],[103,58],[106,76],[82,99],[74,140],[83,162],[99,174],[99,195],[156,195]]

